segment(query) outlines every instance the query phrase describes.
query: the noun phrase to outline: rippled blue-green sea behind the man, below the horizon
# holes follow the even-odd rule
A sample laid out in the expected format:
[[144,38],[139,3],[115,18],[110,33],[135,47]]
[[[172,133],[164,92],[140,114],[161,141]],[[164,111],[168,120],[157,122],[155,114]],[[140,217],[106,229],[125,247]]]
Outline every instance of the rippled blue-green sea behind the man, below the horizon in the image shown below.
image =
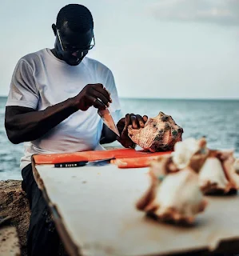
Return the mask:
[[[122,114],[155,117],[162,111],[184,130],[182,138],[207,138],[211,149],[234,149],[239,157],[239,100],[121,98]],[[0,180],[22,179],[23,145],[14,145],[4,127],[6,97],[0,98]]]

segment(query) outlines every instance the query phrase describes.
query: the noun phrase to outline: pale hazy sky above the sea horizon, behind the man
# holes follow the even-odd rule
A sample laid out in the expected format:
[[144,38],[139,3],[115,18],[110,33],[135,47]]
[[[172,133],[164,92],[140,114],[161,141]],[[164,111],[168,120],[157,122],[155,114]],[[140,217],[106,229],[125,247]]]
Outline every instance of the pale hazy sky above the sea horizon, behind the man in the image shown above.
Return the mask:
[[18,59],[54,47],[68,3],[87,6],[96,46],[124,98],[239,99],[239,0],[1,0],[0,95]]

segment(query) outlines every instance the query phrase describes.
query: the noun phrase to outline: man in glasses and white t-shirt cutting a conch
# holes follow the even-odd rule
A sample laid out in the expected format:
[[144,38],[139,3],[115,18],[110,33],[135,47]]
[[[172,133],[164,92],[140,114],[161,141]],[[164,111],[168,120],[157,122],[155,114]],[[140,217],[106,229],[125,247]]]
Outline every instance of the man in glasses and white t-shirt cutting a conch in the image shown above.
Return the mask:
[[87,58],[94,46],[94,22],[85,6],[70,4],[57,17],[54,49],[21,58],[14,70],[6,103],[6,133],[10,142],[25,142],[21,159],[22,189],[30,201],[29,255],[55,255],[58,234],[34,181],[32,154],[98,150],[118,139],[133,147],[127,127],[143,127],[147,117],[126,114],[118,122],[120,138],[103,126],[98,109],[110,106],[119,119],[120,105],[112,72]]

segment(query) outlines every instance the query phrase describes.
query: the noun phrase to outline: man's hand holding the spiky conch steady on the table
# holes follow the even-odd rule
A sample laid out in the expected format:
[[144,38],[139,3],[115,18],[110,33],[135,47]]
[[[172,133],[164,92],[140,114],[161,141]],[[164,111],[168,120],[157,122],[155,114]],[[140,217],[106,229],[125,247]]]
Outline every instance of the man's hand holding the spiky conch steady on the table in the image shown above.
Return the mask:
[[126,114],[125,118],[121,118],[117,124],[118,131],[121,134],[121,136],[118,137],[118,142],[127,148],[134,148],[135,143],[132,142],[128,135],[128,126],[132,125],[133,129],[144,128],[147,120],[148,117],[146,115],[141,117],[140,114]]

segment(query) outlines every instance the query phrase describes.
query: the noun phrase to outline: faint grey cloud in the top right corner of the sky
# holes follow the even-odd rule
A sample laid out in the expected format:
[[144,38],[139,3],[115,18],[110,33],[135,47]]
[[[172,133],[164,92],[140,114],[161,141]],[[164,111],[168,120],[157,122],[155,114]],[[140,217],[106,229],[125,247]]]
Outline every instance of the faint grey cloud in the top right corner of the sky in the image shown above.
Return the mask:
[[239,25],[239,0],[158,0],[149,11],[161,20]]

